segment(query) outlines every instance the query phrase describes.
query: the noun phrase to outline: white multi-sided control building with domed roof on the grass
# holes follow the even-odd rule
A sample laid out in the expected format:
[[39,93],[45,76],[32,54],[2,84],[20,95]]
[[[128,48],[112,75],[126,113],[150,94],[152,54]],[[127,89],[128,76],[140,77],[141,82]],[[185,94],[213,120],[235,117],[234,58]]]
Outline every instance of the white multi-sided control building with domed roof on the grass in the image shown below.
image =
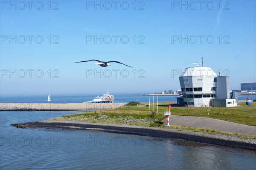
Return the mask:
[[186,68],[179,77],[184,105],[189,107],[237,106],[237,99],[230,99],[229,77],[221,76],[221,72],[217,75],[210,67],[199,67],[199,63],[196,64],[196,67]]

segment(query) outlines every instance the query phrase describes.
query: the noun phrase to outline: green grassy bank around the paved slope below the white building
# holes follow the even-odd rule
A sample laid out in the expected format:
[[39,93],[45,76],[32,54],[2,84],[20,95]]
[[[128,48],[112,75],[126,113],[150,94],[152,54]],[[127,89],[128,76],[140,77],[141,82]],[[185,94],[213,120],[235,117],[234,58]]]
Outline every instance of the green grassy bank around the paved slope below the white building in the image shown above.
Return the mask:
[[[129,124],[129,125],[140,125],[146,127],[160,127],[163,128],[164,124],[161,122],[165,116],[163,112],[168,109],[168,105],[171,105],[170,111],[172,115],[180,116],[198,116],[215,118],[225,121],[236,122],[240,124],[247,124],[251,126],[256,126],[256,104],[247,106],[242,104],[237,107],[177,107],[175,104],[160,103],[159,104],[159,114],[157,114],[157,105],[155,105],[152,112],[153,106],[151,105],[151,112],[149,112],[149,107],[145,104],[132,103],[121,108],[102,110],[96,112],[85,112],[74,115],[64,115],[63,117],[53,118],[53,120],[77,120],[77,121],[87,121],[92,123],[108,123],[108,124]],[[233,133],[220,132],[217,130],[210,129],[197,129],[193,127],[178,127],[171,126],[169,128],[176,128],[178,130],[193,130],[195,132],[204,132],[212,134],[224,134],[230,136],[236,136],[239,138],[256,138],[255,136],[248,135],[238,135]]]

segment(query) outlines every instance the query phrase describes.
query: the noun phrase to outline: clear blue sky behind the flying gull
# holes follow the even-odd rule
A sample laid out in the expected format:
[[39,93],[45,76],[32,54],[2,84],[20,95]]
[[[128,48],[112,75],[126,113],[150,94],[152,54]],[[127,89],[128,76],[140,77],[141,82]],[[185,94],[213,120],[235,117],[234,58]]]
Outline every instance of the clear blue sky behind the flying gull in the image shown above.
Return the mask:
[[[202,56],[204,66],[230,76],[230,89],[255,82],[256,2],[200,2],[116,1],[115,9],[114,1],[1,0],[0,95],[180,89],[173,70]],[[74,63],[90,59],[134,68]]]

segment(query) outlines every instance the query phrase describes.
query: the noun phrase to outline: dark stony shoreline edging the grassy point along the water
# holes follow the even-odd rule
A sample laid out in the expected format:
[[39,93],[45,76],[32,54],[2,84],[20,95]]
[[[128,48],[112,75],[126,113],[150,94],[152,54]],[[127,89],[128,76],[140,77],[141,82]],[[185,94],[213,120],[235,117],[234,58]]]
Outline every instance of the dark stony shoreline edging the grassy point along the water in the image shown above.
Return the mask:
[[108,133],[122,133],[132,135],[151,136],[157,138],[178,139],[201,144],[214,144],[226,147],[236,147],[247,150],[256,150],[256,139],[242,139],[235,136],[221,134],[204,134],[193,130],[179,131],[169,128],[155,128],[134,126],[129,124],[101,124],[81,121],[35,121],[21,124],[12,124],[18,128],[60,128],[71,130],[98,130]]

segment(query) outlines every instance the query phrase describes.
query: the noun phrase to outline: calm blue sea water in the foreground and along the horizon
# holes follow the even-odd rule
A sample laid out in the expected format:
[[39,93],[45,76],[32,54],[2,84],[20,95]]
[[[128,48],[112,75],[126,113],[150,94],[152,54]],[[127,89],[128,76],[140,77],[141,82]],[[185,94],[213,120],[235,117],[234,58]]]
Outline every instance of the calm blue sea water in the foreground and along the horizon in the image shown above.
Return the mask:
[[[122,101],[122,96],[120,99],[117,95],[115,97],[116,102],[134,99],[142,102],[148,99],[140,95],[127,95]],[[171,97],[168,98],[170,101]],[[27,101],[21,99],[24,100],[15,98],[9,102],[39,103],[45,100],[36,97]],[[158,99],[162,100],[160,97]],[[87,98],[60,97],[58,100],[75,103],[86,101]],[[1,102],[7,100],[1,99]],[[178,146],[169,139],[93,130],[20,129],[10,126],[73,113],[78,112],[0,112],[0,170],[256,169],[256,152],[250,150],[212,145]]]

